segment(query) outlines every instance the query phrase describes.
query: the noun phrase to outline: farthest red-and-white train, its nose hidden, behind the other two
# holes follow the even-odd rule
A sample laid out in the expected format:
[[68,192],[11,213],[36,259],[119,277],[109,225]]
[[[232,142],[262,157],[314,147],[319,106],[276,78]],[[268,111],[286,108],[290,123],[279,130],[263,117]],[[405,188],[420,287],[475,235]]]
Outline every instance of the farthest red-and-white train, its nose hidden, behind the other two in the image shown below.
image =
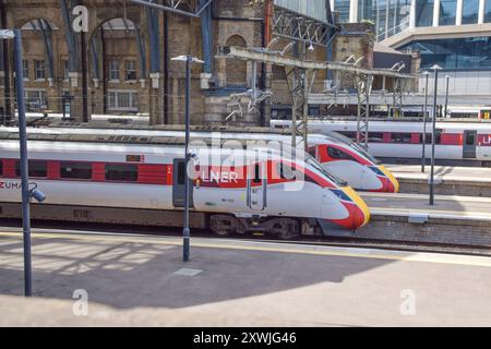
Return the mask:
[[[274,128],[289,128],[290,121],[274,120]],[[336,132],[356,140],[357,121],[315,120],[309,121],[313,132]],[[368,151],[378,158],[421,159],[423,122],[418,121],[370,121]],[[432,123],[427,122],[426,144],[432,143]],[[431,147],[427,146],[427,156]],[[435,159],[478,160],[491,164],[491,123],[488,122],[436,122]]]

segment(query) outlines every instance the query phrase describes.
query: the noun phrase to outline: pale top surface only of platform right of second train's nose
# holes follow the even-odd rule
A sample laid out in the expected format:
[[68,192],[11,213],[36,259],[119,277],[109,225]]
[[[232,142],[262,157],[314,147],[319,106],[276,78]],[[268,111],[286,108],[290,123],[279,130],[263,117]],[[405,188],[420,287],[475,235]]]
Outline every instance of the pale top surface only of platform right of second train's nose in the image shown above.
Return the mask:
[[[430,166],[426,167],[426,173],[421,172],[420,165],[385,166],[400,180],[411,179],[428,182],[428,179],[430,178]],[[435,166],[434,178],[443,181],[481,182],[491,185],[491,168]]]

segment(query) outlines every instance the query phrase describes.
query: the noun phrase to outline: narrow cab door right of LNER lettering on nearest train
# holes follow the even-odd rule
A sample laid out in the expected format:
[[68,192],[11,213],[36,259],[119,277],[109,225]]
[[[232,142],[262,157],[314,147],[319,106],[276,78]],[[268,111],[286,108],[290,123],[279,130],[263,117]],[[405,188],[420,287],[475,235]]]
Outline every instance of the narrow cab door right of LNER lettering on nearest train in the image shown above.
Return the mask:
[[267,173],[265,163],[249,166],[247,202],[252,210],[264,210],[267,206]]

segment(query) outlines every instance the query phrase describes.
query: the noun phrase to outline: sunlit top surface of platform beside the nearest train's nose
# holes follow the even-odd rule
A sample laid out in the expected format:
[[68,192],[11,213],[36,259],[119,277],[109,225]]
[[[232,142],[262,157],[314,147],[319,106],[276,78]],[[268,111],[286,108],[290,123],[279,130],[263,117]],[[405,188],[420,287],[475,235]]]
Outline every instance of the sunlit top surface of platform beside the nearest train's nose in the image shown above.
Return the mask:
[[491,197],[435,195],[434,205],[428,194],[360,193],[372,214],[429,214],[432,217],[491,219]]

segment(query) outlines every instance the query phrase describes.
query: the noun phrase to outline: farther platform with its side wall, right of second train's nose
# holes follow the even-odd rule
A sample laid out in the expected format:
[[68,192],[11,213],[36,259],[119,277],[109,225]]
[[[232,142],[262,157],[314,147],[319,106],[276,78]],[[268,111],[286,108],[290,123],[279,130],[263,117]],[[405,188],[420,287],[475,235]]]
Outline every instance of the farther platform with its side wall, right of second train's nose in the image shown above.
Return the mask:
[[[421,172],[419,165],[386,165],[403,193],[428,193],[431,167]],[[435,166],[435,193],[491,197],[491,168]]]

